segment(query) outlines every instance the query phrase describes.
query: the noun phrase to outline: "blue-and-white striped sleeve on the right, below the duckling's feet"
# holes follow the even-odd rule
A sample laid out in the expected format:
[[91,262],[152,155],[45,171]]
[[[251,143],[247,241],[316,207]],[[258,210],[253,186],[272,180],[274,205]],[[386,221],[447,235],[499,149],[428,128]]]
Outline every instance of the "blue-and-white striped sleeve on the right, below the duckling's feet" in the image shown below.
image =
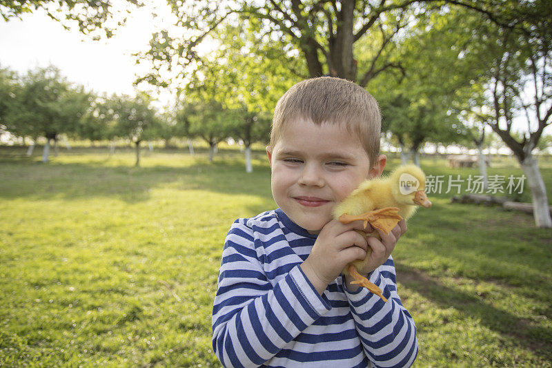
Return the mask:
[[368,280],[382,289],[382,298],[362,287],[343,288],[366,356],[377,367],[410,367],[417,356],[416,327],[397,294],[393,258],[371,272]]

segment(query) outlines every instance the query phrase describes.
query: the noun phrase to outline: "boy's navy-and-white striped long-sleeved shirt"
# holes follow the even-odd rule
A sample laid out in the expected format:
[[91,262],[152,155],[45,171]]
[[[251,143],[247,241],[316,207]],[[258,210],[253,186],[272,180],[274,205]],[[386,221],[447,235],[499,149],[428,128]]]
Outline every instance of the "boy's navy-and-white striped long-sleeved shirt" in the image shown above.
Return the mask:
[[320,296],[299,264],[316,235],[281,209],[230,227],[213,305],[213,349],[225,367],[409,367],[414,321],[397,294],[389,258],[365,288],[339,275]]

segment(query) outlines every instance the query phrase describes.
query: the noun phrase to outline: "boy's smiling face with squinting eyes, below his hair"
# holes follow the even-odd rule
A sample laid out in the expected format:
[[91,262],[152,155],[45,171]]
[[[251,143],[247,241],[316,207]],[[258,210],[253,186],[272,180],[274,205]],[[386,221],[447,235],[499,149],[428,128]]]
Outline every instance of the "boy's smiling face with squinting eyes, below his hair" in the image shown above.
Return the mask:
[[339,124],[290,122],[266,148],[274,200],[293,222],[318,233],[335,205],[363,180],[380,176],[384,155],[371,166],[360,139]]

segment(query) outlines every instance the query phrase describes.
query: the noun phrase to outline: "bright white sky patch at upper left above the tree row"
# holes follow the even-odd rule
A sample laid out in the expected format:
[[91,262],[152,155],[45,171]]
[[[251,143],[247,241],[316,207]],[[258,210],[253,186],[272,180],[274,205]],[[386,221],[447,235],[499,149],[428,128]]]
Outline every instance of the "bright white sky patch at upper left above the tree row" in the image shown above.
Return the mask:
[[52,64],[68,81],[88,90],[134,95],[132,82],[147,68],[135,65],[132,53],[147,50],[152,32],[170,19],[169,12],[153,19],[151,10],[146,6],[132,11],[126,26],[99,41],[78,28],[64,29],[42,10],[7,22],[0,19],[0,66],[25,73]]

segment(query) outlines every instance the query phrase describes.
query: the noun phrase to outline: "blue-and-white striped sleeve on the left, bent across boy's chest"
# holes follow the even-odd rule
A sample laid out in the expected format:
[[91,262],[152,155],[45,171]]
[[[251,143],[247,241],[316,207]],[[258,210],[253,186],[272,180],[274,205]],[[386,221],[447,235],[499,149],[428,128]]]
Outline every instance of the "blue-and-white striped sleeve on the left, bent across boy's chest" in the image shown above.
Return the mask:
[[298,264],[271,283],[243,221],[224,242],[213,303],[213,350],[225,367],[262,365],[331,309]]

